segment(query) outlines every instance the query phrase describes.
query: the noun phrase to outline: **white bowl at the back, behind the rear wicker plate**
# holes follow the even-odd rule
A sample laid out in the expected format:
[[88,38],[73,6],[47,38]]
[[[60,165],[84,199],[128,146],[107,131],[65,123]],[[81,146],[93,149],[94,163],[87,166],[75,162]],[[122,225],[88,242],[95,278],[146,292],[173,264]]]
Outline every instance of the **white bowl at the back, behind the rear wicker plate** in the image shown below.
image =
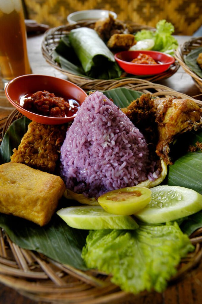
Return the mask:
[[113,15],[114,19],[117,18],[117,14],[112,11],[107,11],[105,9],[88,9],[84,11],[73,12],[67,16],[67,21],[70,24],[75,24],[79,21],[92,20],[96,21],[99,19],[107,18],[109,13]]

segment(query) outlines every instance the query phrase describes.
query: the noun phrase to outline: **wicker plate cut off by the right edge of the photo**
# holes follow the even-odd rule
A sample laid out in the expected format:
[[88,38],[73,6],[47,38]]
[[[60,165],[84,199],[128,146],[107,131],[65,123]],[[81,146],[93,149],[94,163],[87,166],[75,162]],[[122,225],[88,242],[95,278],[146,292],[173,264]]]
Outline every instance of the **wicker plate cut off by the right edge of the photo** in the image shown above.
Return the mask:
[[175,52],[175,57],[179,61],[179,64],[188,73],[192,78],[199,90],[202,92],[202,79],[195,74],[190,67],[188,67],[184,62],[184,57],[190,53],[191,50],[196,49],[197,47],[202,46],[202,37],[191,38],[186,41],[182,46],[178,47]]

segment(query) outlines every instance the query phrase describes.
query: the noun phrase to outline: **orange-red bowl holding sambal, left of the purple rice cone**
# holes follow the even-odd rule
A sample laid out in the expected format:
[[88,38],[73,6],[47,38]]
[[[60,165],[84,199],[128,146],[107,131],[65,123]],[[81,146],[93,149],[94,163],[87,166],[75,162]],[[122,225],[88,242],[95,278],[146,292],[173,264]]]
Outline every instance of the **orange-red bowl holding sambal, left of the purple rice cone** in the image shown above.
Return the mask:
[[[55,96],[63,97],[66,99],[74,99],[80,105],[85,100],[87,94],[77,85],[70,81],[46,75],[23,75],[12,79],[5,88],[5,95],[9,102],[27,118],[48,125],[57,125],[67,123],[74,119],[74,116],[68,117],[50,117],[43,116],[26,109],[23,109],[16,102],[20,102],[23,96],[31,95],[38,91],[48,91],[54,93]],[[72,114],[70,114],[72,115]]]

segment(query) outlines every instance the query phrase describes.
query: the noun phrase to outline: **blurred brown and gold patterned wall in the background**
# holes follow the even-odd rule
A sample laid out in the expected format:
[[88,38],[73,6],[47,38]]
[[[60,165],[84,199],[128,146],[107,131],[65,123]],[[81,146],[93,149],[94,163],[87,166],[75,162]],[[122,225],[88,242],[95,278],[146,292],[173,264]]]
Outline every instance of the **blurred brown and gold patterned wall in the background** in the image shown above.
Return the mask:
[[192,35],[202,25],[202,0],[23,0],[26,18],[50,27],[65,25],[67,16],[85,9],[108,9],[118,19],[155,27],[161,19],[175,34]]

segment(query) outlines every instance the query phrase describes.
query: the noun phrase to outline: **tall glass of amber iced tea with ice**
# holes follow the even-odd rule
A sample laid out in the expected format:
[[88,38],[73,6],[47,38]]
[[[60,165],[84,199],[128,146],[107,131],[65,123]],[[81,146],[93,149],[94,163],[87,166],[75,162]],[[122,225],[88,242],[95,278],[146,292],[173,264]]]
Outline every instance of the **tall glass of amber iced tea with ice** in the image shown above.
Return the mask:
[[21,0],[0,0],[0,71],[4,83],[30,74]]

